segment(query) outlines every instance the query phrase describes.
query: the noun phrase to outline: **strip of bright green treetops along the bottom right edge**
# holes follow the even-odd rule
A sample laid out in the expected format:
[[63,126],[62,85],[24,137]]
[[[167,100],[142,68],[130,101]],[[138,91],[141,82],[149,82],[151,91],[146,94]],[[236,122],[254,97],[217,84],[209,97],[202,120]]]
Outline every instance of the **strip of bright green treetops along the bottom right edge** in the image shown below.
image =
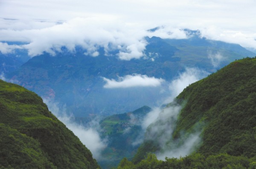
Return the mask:
[[193,154],[180,158],[157,160],[156,155],[149,153],[137,164],[124,158],[117,169],[256,169],[256,158],[231,156],[227,153],[204,156]]

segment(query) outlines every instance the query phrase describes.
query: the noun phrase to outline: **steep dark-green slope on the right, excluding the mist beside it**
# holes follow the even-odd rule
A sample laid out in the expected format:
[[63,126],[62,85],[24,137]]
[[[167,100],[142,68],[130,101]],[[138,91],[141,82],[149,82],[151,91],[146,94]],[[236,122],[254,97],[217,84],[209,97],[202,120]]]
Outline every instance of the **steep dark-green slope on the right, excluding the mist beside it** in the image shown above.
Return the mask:
[[[198,130],[198,122],[203,131],[202,144],[196,151],[199,155],[181,158],[180,163],[190,158],[194,165],[201,159],[201,164],[207,166],[209,161],[221,163],[222,159],[231,163],[238,158],[242,161],[241,157],[246,161],[241,165],[248,168],[248,163],[256,160],[255,72],[255,58],[241,59],[190,85],[177,96],[178,101],[186,101],[186,104],[179,114],[172,139],[180,138],[180,133]],[[156,146],[148,144],[145,142],[140,147],[134,161],[138,162],[136,158],[143,158],[148,151],[154,152]]]

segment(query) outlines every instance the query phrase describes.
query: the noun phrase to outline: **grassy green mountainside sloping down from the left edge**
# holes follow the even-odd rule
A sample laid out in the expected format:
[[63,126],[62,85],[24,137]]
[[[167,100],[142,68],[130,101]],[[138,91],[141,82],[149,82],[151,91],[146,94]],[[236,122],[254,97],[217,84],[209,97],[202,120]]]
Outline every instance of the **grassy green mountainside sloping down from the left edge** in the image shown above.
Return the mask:
[[0,168],[99,168],[35,93],[0,80]]

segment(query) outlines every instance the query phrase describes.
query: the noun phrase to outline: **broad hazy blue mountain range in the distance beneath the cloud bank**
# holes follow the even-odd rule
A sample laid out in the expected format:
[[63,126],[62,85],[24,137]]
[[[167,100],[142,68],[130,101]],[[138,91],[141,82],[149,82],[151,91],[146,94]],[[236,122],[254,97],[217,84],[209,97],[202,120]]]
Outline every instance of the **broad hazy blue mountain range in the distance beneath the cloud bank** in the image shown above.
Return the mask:
[[93,57],[79,46],[75,53],[63,47],[56,56],[35,56],[6,76],[44,98],[65,104],[76,117],[107,116],[143,105],[158,106],[169,96],[164,92],[169,88],[166,83],[159,87],[105,88],[103,78],[118,81],[119,77],[140,74],[168,83],[188,67],[212,73],[235,59],[255,56],[240,45],[201,38],[198,31],[187,32],[189,39],[145,37],[148,45],[142,59],[120,60],[118,51],[105,56],[104,48]]

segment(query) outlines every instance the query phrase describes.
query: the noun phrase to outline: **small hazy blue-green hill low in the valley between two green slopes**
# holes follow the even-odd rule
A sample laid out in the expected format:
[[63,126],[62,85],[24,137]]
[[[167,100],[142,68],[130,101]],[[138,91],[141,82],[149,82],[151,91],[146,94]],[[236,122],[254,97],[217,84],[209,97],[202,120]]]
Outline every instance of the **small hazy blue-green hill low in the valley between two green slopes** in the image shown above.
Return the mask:
[[[98,160],[105,169],[118,165],[122,158],[132,159],[143,138],[141,123],[145,115],[151,111],[143,106],[133,112],[115,114],[100,121],[101,135],[108,137],[108,146],[102,152],[103,159]],[[140,137],[142,136],[142,137]]]

